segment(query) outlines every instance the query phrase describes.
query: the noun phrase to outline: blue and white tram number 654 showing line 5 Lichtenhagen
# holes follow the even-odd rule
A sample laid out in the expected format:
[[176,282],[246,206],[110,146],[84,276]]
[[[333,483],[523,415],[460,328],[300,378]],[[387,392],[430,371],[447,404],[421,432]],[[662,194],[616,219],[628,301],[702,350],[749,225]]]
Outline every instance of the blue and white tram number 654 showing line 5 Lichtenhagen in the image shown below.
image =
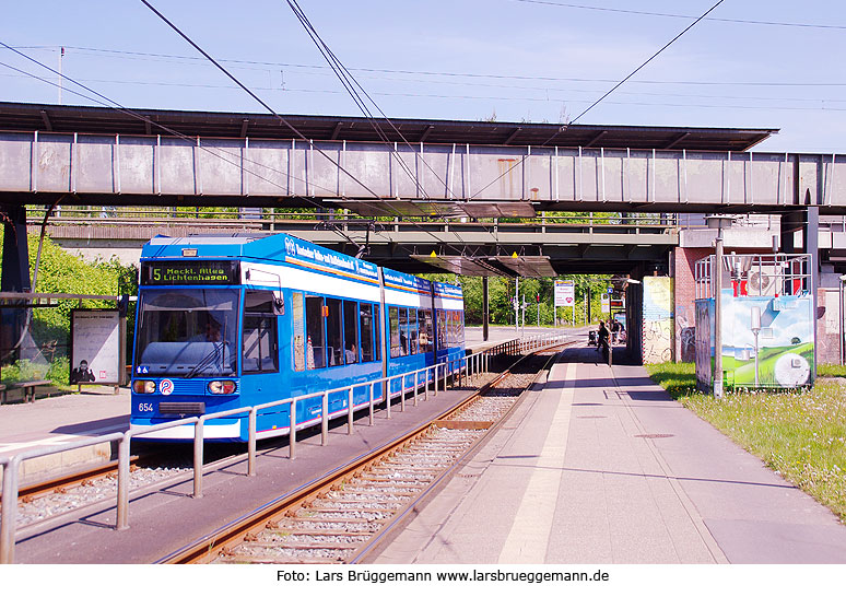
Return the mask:
[[[460,286],[378,268],[294,236],[157,236],[141,253],[131,425],[221,412],[413,372],[463,355]],[[408,376],[407,388],[413,387]],[[423,375],[419,376],[424,384]],[[401,391],[393,379],[388,394]],[[384,400],[383,384],[375,398]],[[364,408],[369,389],[353,391]],[[329,415],[349,391],[329,394]],[[297,428],[321,398],[297,402]],[[290,432],[290,406],[259,411],[259,438]],[[246,414],[204,437],[246,442]],[[188,440],[191,425],[144,434]]]

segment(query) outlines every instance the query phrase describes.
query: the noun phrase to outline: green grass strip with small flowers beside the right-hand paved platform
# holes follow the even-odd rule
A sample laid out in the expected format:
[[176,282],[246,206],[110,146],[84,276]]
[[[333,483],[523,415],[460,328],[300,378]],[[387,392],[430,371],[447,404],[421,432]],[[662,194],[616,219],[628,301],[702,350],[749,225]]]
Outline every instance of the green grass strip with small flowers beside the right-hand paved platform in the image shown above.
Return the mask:
[[[692,363],[663,363],[646,368],[685,408],[760,457],[846,523],[846,391],[843,386],[820,381],[812,389],[739,390],[716,400],[695,390]],[[823,375],[822,371],[820,374]]]

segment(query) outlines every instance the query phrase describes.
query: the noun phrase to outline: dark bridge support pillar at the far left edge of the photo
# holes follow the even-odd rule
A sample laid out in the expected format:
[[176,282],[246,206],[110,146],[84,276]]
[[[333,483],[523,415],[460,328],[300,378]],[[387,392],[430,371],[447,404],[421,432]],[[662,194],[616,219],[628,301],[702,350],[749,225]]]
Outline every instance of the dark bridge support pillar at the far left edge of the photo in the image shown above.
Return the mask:
[[[0,203],[3,221],[3,259],[0,272],[0,291],[30,291],[30,250],[26,245],[26,208]],[[26,311],[0,309],[0,362],[14,356],[11,349],[23,331]]]

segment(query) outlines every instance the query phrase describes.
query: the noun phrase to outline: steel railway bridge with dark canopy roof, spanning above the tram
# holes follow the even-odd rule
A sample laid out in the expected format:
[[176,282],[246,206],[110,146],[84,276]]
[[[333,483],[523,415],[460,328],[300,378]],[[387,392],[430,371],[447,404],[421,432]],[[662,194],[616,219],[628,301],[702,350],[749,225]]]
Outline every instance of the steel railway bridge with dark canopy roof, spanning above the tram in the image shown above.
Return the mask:
[[[27,207],[52,210],[30,211],[70,244],[285,231],[346,253],[366,244],[411,272],[485,277],[666,272],[677,214],[773,214],[778,250],[822,248],[841,273],[846,225],[822,247],[818,231],[846,216],[846,156],[752,151],[775,132],[0,103],[2,291],[30,286]],[[78,206],[108,218],[71,216]],[[167,221],[125,219],[154,207]],[[179,221],[191,207],[238,220]]]

